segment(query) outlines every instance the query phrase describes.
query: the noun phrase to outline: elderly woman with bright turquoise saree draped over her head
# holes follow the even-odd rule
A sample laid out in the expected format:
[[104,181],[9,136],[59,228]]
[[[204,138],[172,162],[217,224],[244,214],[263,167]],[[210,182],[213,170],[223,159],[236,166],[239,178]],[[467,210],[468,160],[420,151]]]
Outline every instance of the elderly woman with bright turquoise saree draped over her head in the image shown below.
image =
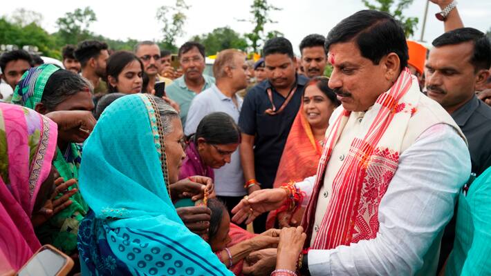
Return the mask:
[[232,275],[178,217],[169,193],[184,157],[178,114],[128,95],[106,108],[84,145],[82,275]]

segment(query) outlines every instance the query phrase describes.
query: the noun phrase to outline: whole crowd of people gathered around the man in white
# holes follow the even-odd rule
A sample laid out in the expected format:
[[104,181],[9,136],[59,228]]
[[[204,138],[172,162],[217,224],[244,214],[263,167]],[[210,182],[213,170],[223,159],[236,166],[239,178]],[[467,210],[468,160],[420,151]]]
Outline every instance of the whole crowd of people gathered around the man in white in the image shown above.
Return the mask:
[[431,1],[431,49],[362,10],[212,75],[194,41],[4,52],[0,274],[490,275],[491,42]]

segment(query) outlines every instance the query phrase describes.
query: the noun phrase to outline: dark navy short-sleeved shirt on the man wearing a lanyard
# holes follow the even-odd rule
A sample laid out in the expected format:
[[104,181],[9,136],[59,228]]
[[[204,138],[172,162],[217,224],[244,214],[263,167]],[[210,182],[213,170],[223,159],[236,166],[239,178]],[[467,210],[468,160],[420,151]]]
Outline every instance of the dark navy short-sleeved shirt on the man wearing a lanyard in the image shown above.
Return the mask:
[[272,188],[275,181],[286,138],[302,103],[307,81],[306,77],[297,75],[297,90],[284,110],[277,115],[265,113],[268,108],[272,108],[266,90],[271,88],[272,101],[277,109],[286,98],[279,94],[268,80],[251,88],[243,101],[239,127],[243,133],[255,135],[254,170],[256,179],[263,188]]

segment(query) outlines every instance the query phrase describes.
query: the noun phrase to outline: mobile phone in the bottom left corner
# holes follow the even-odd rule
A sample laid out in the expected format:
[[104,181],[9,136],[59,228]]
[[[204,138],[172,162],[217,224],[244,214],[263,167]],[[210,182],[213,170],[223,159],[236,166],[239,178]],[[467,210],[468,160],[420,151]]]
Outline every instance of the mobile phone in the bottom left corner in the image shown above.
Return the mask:
[[19,270],[19,276],[64,276],[73,268],[73,259],[62,251],[46,244],[39,248],[28,262]]

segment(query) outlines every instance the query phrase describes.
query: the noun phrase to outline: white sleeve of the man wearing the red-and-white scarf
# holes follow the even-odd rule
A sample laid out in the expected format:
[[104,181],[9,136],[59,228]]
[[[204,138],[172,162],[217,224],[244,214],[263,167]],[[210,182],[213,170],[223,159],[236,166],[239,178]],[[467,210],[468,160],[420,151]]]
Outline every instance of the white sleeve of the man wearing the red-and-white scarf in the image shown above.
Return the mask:
[[438,124],[423,132],[400,155],[380,201],[377,237],[310,250],[311,275],[414,275],[450,221],[470,167],[469,150],[451,126]]

